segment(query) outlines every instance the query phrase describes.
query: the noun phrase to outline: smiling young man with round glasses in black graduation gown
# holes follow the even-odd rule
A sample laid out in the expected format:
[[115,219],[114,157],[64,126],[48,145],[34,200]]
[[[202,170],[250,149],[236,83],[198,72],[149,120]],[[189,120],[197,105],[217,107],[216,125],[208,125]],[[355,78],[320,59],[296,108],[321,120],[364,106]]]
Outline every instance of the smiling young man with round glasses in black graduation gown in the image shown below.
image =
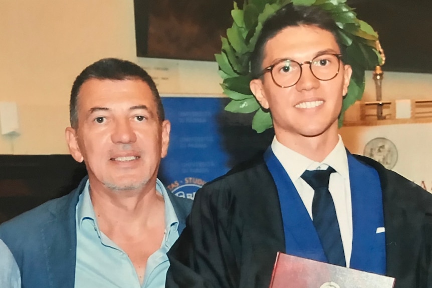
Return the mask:
[[432,286],[432,195],[338,135],[352,73],[342,53],[335,22],[313,6],[265,22],[250,88],[273,143],[196,193],[167,287],[267,288],[278,251]]

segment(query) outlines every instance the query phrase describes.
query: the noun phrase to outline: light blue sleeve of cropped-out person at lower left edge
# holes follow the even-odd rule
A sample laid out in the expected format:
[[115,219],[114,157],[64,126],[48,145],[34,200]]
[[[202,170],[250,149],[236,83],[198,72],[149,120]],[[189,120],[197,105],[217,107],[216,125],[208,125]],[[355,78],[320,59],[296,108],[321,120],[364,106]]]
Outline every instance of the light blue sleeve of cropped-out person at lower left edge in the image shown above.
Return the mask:
[[14,256],[0,240],[0,287],[2,288],[21,288],[21,275]]

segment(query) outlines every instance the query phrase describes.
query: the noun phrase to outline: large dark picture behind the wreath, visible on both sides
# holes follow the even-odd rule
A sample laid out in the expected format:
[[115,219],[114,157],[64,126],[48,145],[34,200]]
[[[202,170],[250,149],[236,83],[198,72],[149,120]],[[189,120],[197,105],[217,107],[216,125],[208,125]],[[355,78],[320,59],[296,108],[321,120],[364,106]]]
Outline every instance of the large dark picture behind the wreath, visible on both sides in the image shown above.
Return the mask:
[[[237,1],[242,6],[243,0]],[[432,73],[431,0],[347,0],[378,31],[384,71]],[[214,61],[233,0],[134,0],[138,57]]]

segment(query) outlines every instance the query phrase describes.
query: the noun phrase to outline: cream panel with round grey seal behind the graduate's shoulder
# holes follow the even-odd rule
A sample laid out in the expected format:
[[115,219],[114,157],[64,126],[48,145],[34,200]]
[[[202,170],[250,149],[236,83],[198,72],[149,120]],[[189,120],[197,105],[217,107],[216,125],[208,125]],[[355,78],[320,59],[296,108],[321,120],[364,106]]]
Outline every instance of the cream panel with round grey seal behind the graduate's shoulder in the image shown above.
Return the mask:
[[342,127],[351,153],[366,155],[432,193],[432,123]]

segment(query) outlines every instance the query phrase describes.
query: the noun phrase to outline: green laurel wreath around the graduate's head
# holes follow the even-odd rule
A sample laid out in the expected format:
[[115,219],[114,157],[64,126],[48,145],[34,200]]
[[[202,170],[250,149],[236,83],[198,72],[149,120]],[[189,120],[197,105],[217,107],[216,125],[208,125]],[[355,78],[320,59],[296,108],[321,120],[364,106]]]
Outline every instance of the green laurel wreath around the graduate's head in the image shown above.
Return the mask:
[[342,104],[339,127],[346,109],[360,100],[365,85],[365,70],[373,69],[382,62],[376,50],[378,35],[364,21],[357,19],[346,0],[245,0],[243,9],[234,2],[231,11],[233,25],[227,29],[227,37],[222,37],[222,51],[215,54],[219,65],[219,75],[224,94],[231,101],[225,110],[234,113],[253,113],[252,128],[258,133],[273,126],[269,111],[264,111],[249,88],[252,80],[250,55],[255,48],[263,23],[285,5],[318,6],[327,11],[338,27],[338,40],[345,53],[343,61],[352,67],[348,93]]

